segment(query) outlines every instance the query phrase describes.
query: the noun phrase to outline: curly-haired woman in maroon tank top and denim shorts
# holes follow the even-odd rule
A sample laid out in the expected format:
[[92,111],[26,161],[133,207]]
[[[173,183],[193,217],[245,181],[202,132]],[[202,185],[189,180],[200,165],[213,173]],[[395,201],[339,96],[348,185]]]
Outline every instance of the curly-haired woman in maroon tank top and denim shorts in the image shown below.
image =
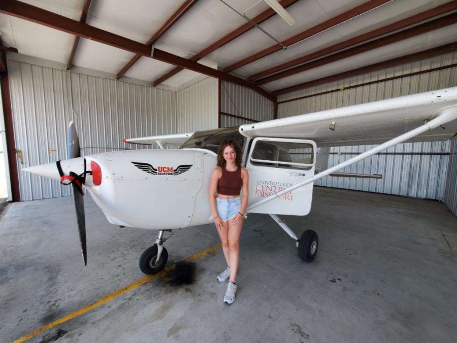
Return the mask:
[[239,241],[248,203],[249,176],[246,168],[241,166],[241,158],[241,147],[237,141],[223,141],[217,150],[217,167],[213,170],[210,183],[211,211],[227,262],[227,268],[217,280],[224,282],[230,279],[224,295],[227,304],[235,301]]

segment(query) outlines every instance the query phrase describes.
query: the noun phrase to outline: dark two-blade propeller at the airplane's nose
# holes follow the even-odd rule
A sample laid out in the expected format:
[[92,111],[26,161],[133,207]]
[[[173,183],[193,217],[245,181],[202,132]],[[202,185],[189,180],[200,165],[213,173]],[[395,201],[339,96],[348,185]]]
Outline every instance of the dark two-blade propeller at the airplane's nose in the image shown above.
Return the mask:
[[[73,120],[68,125],[67,133],[67,158],[81,157],[81,150],[79,148],[78,132],[76,132],[75,123]],[[85,162],[84,162],[85,165]],[[78,176],[70,172],[70,176]],[[84,265],[87,265],[87,245],[86,245],[86,219],[84,214],[84,198],[82,185],[76,182],[72,183],[73,186],[73,199],[75,200],[76,219],[78,221],[79,242],[81,243],[81,252],[83,255]]]

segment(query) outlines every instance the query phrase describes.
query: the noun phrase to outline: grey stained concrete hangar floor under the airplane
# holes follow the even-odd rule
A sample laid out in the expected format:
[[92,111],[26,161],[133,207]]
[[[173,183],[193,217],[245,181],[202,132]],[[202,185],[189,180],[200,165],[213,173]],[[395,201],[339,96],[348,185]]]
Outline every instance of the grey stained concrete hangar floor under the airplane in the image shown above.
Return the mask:
[[[307,217],[319,251],[267,215],[241,237],[237,300],[222,303],[220,250],[195,260],[192,285],[157,278],[33,337],[33,342],[455,342],[457,218],[443,203],[315,187]],[[144,277],[156,233],[109,224],[86,197],[84,267],[70,197],[14,203],[0,223],[0,341],[13,341]],[[449,244],[446,243],[446,235]],[[212,226],[177,231],[168,265],[218,243]]]

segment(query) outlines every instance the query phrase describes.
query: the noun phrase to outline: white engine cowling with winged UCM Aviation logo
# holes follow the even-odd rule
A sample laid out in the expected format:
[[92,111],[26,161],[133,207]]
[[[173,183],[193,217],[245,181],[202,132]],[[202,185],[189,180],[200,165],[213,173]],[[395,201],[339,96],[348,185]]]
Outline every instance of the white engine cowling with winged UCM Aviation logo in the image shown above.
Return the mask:
[[[102,169],[102,182],[85,186],[109,222],[145,229],[210,223],[209,182],[216,154],[203,149],[133,150],[86,156]],[[133,162],[151,165],[140,169]],[[182,174],[179,166],[190,166]],[[187,167],[186,167],[187,168]],[[185,169],[186,169],[185,168]],[[182,168],[181,168],[182,169]]]

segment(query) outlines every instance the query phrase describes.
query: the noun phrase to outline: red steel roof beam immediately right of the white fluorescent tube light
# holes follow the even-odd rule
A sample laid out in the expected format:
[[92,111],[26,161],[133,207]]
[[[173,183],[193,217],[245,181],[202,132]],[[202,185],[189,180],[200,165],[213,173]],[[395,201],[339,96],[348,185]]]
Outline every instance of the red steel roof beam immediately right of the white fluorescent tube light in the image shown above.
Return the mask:
[[[385,3],[390,2],[391,0],[370,0],[360,6],[357,6],[349,11],[346,11],[340,15],[337,15],[336,17],[333,17],[329,20],[324,21],[323,23],[320,23],[314,27],[311,27],[298,35],[295,35],[289,39],[286,39],[285,41],[281,42],[285,46],[290,46],[292,44],[296,44],[298,42],[301,42],[309,37],[312,37],[314,35],[317,35],[317,33],[320,33],[322,31],[325,31],[333,26],[336,26],[338,24],[341,24],[344,21],[347,21],[349,19],[352,19],[358,15],[361,15],[362,13],[371,11],[372,9],[379,7],[381,5],[384,5]],[[279,51],[282,49],[282,46],[279,44],[272,45],[271,47],[262,50],[260,52],[257,52],[249,57],[246,57],[242,59],[241,61],[238,61],[232,65],[227,66],[224,68],[224,73],[231,72],[239,67],[242,67],[243,65],[252,63],[253,61],[256,61],[262,57],[268,56],[276,51]]]

